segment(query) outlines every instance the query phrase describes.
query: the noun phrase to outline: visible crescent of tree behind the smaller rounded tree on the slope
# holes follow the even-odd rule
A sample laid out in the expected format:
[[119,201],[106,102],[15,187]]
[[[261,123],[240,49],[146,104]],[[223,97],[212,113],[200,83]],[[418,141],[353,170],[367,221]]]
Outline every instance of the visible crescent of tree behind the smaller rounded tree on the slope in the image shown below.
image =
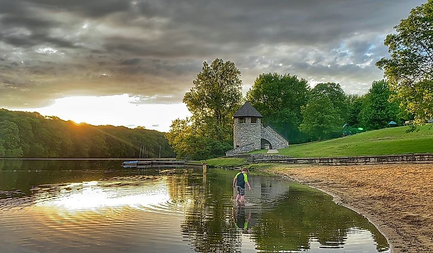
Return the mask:
[[349,116],[349,106],[347,96],[340,84],[336,83],[320,83],[312,89],[313,94],[325,95],[334,106],[334,109],[340,115],[343,121],[346,121]]

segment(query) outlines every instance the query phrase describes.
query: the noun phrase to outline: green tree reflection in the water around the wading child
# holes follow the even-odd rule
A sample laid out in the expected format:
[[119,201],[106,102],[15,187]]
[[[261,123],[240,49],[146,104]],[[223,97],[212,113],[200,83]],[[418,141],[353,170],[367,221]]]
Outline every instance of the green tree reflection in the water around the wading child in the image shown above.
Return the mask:
[[205,184],[203,174],[193,170],[168,177],[170,198],[185,212],[182,234],[197,252],[241,252],[245,235],[265,252],[307,250],[312,241],[337,249],[350,233],[361,231],[372,233],[377,251],[388,250],[386,239],[364,217],[303,185],[252,175],[253,192],[246,193],[245,205],[236,205],[232,174],[208,170]]

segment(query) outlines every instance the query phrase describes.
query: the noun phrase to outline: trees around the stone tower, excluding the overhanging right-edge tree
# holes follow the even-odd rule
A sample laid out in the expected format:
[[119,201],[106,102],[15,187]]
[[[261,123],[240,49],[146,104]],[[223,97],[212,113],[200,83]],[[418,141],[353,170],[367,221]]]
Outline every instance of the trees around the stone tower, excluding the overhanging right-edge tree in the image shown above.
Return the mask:
[[239,76],[230,61],[204,62],[183,98],[192,117],[173,121],[166,134],[179,158],[219,157],[233,148],[233,115],[245,101],[263,115],[263,124],[272,125],[292,144],[340,137],[345,123],[356,133],[411,118],[396,102],[389,102],[392,92],[384,80],[357,95],[346,94],[336,83],[311,88],[296,75],[263,73],[243,98]]

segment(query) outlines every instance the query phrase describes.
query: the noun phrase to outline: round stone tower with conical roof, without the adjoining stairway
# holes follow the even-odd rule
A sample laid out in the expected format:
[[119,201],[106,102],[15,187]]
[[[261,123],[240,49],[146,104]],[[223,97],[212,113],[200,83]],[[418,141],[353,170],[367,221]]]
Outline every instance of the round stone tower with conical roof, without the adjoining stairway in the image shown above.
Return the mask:
[[235,120],[233,125],[234,148],[245,149],[246,152],[260,149],[262,115],[250,103],[245,102],[233,118]]

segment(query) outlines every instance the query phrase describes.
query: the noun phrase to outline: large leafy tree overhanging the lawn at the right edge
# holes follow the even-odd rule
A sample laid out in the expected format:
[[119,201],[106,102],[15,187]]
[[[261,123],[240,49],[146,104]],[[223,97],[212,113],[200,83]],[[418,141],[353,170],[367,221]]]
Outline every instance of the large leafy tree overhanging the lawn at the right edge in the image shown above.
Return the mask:
[[433,0],[412,9],[395,29],[385,39],[390,58],[376,65],[385,71],[394,98],[422,124],[433,118]]

